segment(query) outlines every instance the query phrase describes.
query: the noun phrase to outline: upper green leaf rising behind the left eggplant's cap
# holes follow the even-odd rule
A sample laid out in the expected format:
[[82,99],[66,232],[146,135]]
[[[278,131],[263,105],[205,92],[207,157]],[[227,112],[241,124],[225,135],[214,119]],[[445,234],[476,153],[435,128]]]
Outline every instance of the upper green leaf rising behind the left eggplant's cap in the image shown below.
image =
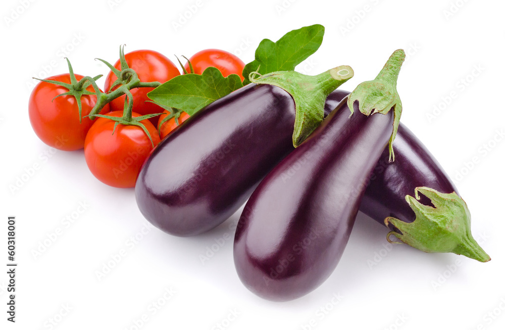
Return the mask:
[[314,54],[323,42],[324,26],[315,24],[292,30],[277,42],[263,39],[256,49],[255,60],[242,71],[243,84],[250,83],[249,73],[267,74],[275,71],[292,71],[302,61]]

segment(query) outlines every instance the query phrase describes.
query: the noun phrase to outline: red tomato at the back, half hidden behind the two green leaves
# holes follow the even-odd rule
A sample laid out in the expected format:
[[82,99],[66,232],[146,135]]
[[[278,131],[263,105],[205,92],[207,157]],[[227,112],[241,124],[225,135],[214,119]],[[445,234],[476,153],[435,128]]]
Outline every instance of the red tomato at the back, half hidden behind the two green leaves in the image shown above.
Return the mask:
[[[189,61],[193,66],[194,73],[201,74],[208,67],[215,67],[218,68],[225,77],[234,73],[238,74],[240,79],[244,80],[244,77],[242,77],[242,71],[245,66],[244,62],[226,51],[217,49],[203,50],[191,56]],[[184,65],[184,68],[189,72],[188,63]]]

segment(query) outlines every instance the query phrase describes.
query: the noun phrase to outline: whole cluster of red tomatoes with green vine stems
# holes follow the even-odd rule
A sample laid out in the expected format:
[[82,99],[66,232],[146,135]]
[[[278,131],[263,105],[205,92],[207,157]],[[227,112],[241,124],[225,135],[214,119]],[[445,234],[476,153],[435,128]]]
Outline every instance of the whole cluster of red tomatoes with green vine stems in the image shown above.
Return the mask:
[[[172,61],[155,51],[134,51],[124,54],[123,60],[141,82],[163,83],[180,75]],[[224,76],[235,73],[242,77],[244,68],[244,63],[233,54],[215,49],[198,52],[189,61],[192,72],[197,74],[214,66]],[[120,60],[114,68],[123,69]],[[186,68],[185,71],[189,72],[188,64]],[[132,100],[123,94],[103,106],[98,114],[91,113],[97,104],[97,87],[93,89],[91,82],[82,84],[81,80],[86,78],[74,75],[70,63],[69,69],[70,73],[41,81],[33,89],[28,114],[35,134],[46,145],[59,150],[84,148],[88,168],[98,180],[115,187],[135,186],[142,164],[160,138],[167,136],[189,115],[182,111],[172,113],[146,102],[149,100],[147,93],[154,87],[132,88]],[[117,74],[111,70],[106,77],[105,93],[120,87],[116,79],[119,81]],[[77,94],[72,94],[70,89],[75,86],[81,88],[76,88]],[[129,101],[133,103],[131,113],[125,114],[125,104]],[[146,115],[148,118],[143,119]],[[95,119],[95,116],[99,118]],[[121,120],[125,116],[133,121]],[[165,119],[167,116],[168,120]]]

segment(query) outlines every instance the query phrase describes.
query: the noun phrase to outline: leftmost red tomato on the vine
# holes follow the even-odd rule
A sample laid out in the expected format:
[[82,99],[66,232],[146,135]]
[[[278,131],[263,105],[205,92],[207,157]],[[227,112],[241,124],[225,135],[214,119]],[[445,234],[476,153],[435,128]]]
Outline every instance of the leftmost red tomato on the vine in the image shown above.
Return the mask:
[[[83,76],[76,74],[77,80]],[[60,74],[47,80],[61,81],[70,84],[70,74]],[[93,87],[86,88],[94,91]],[[33,88],[28,103],[28,116],[35,134],[48,146],[59,150],[72,151],[84,147],[86,133],[93,124],[88,117],[96,104],[96,96],[83,95],[81,97],[82,122],[79,123],[79,108],[77,100],[71,95],[54,99],[68,89],[49,82],[41,81]],[[53,100],[54,99],[54,100]],[[109,112],[106,105],[101,113]]]

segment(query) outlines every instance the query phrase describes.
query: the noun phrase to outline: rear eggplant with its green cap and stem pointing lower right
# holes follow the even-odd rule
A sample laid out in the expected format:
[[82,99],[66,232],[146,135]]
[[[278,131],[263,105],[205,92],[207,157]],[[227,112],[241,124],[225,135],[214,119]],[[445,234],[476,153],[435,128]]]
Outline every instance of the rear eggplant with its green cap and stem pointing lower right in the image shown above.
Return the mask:
[[[348,95],[335,90],[326,99],[325,115]],[[453,252],[486,262],[489,255],[470,231],[470,211],[456,186],[423,143],[402,123],[389,162],[384,151],[369,178],[360,211],[387,226],[387,240],[425,252]],[[416,219],[417,224],[409,225]],[[392,242],[394,235],[399,241]]]

